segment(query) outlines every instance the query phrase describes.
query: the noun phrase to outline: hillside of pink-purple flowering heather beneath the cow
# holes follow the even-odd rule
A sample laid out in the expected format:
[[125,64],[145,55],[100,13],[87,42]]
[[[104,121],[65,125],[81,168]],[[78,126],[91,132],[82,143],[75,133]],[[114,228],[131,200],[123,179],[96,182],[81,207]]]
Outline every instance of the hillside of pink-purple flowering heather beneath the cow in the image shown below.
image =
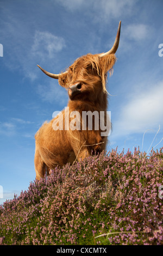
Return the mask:
[[0,206],[0,237],[6,245],[161,245],[162,173],[163,148],[55,168]]

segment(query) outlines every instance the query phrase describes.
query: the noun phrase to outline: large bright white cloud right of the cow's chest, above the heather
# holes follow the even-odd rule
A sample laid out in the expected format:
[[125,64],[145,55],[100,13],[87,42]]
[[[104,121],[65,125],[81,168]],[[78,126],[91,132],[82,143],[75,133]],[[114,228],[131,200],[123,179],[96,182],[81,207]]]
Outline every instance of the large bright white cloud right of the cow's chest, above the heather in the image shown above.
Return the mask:
[[137,92],[119,113],[114,122],[114,136],[143,133],[147,129],[163,127],[163,81],[152,89]]

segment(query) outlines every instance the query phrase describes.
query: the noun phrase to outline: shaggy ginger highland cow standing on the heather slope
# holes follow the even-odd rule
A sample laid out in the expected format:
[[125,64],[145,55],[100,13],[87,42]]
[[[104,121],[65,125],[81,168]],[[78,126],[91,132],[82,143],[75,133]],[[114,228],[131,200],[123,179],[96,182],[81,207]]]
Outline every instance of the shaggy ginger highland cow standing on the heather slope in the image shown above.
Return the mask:
[[[56,166],[63,166],[74,160],[84,159],[91,155],[91,151],[101,153],[106,148],[107,137],[102,136],[101,127],[95,129],[95,117],[92,117],[92,129],[72,130],[65,129],[65,120],[71,121],[70,113],[79,113],[79,123],[82,123],[83,112],[104,112],[104,123],[106,125],[106,110],[108,105],[108,94],[106,90],[106,79],[108,71],[116,62],[116,50],[120,41],[121,21],[118,26],[117,36],[111,50],[100,54],[87,54],[78,58],[65,72],[52,74],[39,68],[49,77],[58,79],[60,86],[68,89],[68,112],[61,112],[63,118],[62,129],[54,129],[54,122],[59,120],[53,118],[49,123],[41,126],[35,135],[35,171],[36,179],[43,178]],[[100,115],[98,115],[100,122]],[[96,120],[97,122],[97,120]],[[70,126],[68,126],[70,128]]]

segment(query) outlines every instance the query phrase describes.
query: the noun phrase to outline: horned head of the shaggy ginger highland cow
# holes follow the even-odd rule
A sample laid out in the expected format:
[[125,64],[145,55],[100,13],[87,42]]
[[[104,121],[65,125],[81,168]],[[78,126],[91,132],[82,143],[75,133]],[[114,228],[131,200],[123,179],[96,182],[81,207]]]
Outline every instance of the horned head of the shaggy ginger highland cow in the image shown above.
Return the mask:
[[[114,45],[111,50],[99,54],[87,54],[75,60],[75,62],[63,73],[52,74],[39,68],[49,77],[58,79],[60,86],[68,89],[71,100],[93,100],[101,94],[106,93],[106,77],[108,71],[112,72],[114,66],[119,41],[120,41],[121,21]],[[92,99],[91,99],[92,98]]]

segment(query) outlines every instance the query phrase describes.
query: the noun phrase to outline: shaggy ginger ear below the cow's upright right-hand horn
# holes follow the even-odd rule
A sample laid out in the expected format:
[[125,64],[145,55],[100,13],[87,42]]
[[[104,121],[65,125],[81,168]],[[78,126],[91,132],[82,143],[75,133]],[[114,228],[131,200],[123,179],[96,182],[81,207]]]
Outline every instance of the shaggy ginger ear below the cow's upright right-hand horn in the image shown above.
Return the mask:
[[99,59],[99,66],[104,74],[106,74],[109,71],[111,75],[112,67],[114,66],[115,62],[116,62],[115,54],[108,54]]

